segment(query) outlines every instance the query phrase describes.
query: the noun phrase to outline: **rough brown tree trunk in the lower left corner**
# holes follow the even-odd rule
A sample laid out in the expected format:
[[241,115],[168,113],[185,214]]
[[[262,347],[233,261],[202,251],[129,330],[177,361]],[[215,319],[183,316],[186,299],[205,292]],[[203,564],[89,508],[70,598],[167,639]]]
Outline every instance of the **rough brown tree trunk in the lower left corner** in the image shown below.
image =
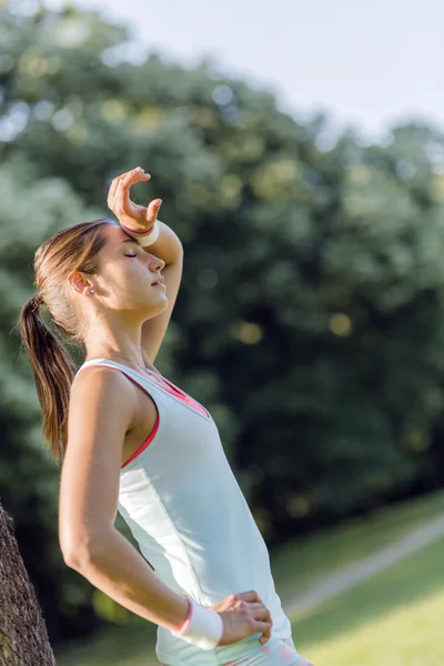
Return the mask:
[[54,666],[47,626],[12,519],[0,503],[0,665]]

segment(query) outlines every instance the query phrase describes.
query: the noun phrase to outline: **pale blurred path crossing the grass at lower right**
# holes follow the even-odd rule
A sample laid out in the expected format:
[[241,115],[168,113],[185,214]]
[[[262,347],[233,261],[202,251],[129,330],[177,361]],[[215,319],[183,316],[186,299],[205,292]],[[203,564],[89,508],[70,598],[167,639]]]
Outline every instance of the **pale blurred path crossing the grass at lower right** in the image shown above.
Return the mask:
[[301,613],[310,610],[313,606],[351,589],[359,583],[408,557],[408,555],[425,548],[442,536],[444,536],[444,516],[424,523],[422,527],[413,529],[390,546],[385,546],[377,553],[323,578],[311,589],[295,595],[293,601],[284,605],[284,610],[290,619],[293,619]]

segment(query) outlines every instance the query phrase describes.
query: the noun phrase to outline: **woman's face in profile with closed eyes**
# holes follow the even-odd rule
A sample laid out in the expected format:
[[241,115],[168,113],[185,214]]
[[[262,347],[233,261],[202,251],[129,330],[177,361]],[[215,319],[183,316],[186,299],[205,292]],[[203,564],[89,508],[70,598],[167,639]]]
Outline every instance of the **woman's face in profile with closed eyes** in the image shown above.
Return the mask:
[[164,262],[149,254],[120,226],[109,225],[103,233],[107,244],[98,255],[94,290],[99,301],[113,311],[133,311],[147,319],[168,306],[167,289],[162,283]]

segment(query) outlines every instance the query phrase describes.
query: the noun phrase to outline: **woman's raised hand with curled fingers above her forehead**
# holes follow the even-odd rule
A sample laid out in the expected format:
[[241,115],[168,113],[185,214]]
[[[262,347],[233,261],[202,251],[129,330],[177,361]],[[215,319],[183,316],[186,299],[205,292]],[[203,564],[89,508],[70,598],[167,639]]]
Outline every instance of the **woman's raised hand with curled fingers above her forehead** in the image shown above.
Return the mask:
[[138,205],[130,199],[130,188],[135,183],[151,179],[141,167],[127,171],[113,179],[108,192],[108,208],[114,213],[122,226],[135,233],[145,233],[158,219],[161,199],[154,199],[148,206]]

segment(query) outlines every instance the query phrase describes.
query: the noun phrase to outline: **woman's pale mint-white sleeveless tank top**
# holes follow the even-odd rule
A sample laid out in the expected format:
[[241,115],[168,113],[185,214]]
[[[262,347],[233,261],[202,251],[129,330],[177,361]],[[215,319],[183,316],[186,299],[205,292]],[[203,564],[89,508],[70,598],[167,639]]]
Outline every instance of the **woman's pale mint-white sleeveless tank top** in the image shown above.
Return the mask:
[[[272,634],[290,638],[291,625],[274,588],[266,545],[209,412],[195,408],[192,398],[184,402],[172,395],[155,377],[114,361],[94,359],[82,369],[89,365],[122,372],[158,408],[155,435],[122,467],[119,490],[119,513],[157,576],[203,606],[254,589],[271,613]],[[260,636],[242,642],[245,654]],[[230,660],[231,647],[216,648],[214,665],[223,663],[225,653]],[[160,662],[193,666],[201,654],[200,648],[158,628]]]

